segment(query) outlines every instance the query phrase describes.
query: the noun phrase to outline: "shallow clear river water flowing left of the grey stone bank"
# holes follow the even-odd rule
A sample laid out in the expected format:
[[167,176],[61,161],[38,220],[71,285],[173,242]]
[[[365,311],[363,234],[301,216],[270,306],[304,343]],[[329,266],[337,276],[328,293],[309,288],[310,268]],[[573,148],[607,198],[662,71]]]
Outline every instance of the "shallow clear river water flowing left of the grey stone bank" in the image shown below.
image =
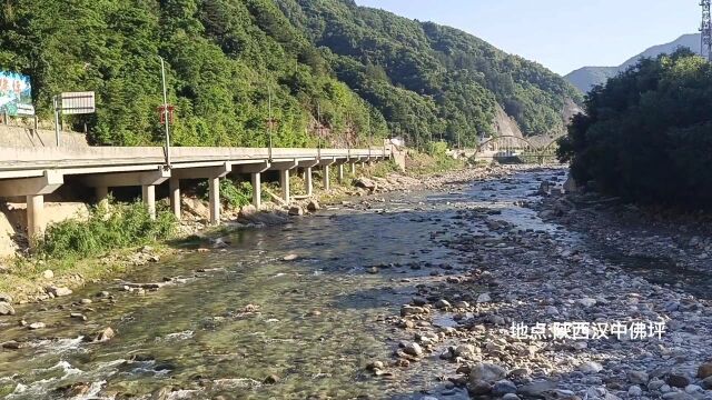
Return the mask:
[[[392,379],[366,371],[368,361],[388,360],[399,340],[413,339],[384,319],[429,278],[433,268],[419,266],[466,268],[432,240],[458,208],[496,209],[496,219],[520,229],[577,240],[518,206],[535,199],[541,180],[564,178],[563,170],[543,170],[452,192],[390,194],[385,202],[369,200],[369,210],[325,210],[287,226],[241,230],[222,251],[179,253],[123,277],[185,278],[157,291],[129,293],[123,281],[103,282],[20,306],[16,317],[0,320],[0,342],[30,346],[0,351],[0,396],[71,398],[61,388],[83,384],[73,398],[150,399],[172,388],[166,398],[419,399],[432,390],[467,399],[435,381],[443,373],[436,356]],[[283,261],[289,253],[299,258]],[[374,266],[380,266],[377,273],[370,273]],[[111,299],[97,297],[105,290]],[[93,301],[81,304],[82,298]],[[20,319],[47,328],[29,331]],[[81,340],[107,327],[113,339]],[[265,382],[270,376],[277,381]]]

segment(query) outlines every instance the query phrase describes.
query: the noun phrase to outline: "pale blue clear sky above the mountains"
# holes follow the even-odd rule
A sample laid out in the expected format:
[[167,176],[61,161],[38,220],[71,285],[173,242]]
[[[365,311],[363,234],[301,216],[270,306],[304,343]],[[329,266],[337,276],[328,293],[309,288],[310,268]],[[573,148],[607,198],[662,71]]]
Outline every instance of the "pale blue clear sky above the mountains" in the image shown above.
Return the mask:
[[696,33],[699,0],[356,0],[462,29],[561,74]]

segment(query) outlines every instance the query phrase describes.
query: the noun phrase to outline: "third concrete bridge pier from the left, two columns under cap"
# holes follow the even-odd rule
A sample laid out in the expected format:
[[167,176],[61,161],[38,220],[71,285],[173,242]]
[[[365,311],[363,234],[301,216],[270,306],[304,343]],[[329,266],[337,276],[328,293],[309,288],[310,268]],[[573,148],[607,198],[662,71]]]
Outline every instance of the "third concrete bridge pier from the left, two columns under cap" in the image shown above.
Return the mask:
[[[170,192],[171,209],[176,217],[180,218],[180,179],[207,179],[208,180],[208,210],[210,211],[210,224],[220,223],[220,179],[233,170],[229,162],[216,167],[181,168],[172,171],[174,183]],[[170,184],[170,181],[169,181]]]

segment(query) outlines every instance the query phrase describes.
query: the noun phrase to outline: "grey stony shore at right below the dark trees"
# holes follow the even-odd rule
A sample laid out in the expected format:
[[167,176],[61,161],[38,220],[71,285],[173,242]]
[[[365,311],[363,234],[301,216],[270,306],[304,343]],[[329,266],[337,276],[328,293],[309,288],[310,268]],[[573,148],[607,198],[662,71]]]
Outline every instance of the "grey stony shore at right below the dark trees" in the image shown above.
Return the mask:
[[500,217],[501,207],[482,204],[444,221],[434,240],[456,258],[428,266],[434,278],[389,319],[412,340],[368,369],[380,376],[447,363],[449,373],[438,378],[444,391],[428,400],[464,389],[507,400],[712,399],[710,302],[681,283],[627,271],[600,247],[665,256],[673,273],[704,270],[710,237],[690,226],[669,234],[642,216],[631,224],[620,212],[635,209],[613,212],[602,206],[606,199],[564,197],[564,180],[555,172],[540,184],[542,201],[530,200],[532,192],[511,204],[535,208],[554,226],[522,229]]

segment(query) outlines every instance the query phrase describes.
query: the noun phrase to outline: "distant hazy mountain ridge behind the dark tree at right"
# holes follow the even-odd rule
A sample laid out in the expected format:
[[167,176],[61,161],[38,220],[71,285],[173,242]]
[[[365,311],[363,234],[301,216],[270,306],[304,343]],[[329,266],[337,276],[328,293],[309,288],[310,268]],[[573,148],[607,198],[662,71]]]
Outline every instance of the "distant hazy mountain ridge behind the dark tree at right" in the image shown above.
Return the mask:
[[635,66],[641,58],[656,58],[660,54],[670,54],[681,47],[699,53],[700,33],[683,34],[670,43],[653,46],[617,67],[583,67],[564,78],[585,93],[594,86],[605,83],[609,78],[613,78],[629,67]]

